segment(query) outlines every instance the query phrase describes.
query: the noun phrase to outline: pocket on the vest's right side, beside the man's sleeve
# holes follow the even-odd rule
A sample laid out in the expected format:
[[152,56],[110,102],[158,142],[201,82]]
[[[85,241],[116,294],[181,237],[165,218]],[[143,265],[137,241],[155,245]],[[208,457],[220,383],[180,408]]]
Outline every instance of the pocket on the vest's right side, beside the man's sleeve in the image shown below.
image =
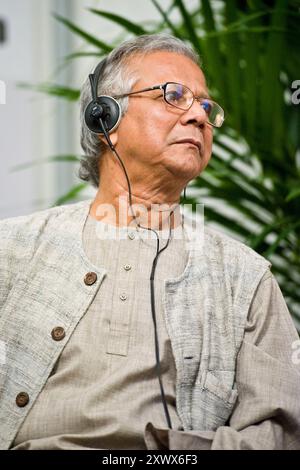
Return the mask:
[[234,371],[203,371],[192,392],[192,429],[216,431],[230,418],[238,392]]

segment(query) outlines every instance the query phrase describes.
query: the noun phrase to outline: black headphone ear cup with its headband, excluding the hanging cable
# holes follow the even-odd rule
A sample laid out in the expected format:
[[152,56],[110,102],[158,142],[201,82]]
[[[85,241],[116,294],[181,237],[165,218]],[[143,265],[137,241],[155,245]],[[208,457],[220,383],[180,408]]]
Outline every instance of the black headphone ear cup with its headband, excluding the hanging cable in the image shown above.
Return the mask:
[[99,78],[103,74],[106,63],[107,59],[102,60],[94,73],[89,75],[92,101],[85,109],[84,119],[90,131],[96,134],[104,134],[103,125],[107,133],[112,132],[118,127],[121,119],[120,105],[112,96],[97,96]]

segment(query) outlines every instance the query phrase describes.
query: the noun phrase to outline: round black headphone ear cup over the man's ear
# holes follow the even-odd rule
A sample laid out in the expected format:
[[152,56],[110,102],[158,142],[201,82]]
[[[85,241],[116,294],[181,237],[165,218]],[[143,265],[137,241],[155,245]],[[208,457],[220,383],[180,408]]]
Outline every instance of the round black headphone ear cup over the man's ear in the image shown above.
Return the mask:
[[101,118],[106,132],[112,132],[120,123],[121,108],[112,96],[101,95],[87,105],[84,118],[90,131],[104,134],[99,120]]

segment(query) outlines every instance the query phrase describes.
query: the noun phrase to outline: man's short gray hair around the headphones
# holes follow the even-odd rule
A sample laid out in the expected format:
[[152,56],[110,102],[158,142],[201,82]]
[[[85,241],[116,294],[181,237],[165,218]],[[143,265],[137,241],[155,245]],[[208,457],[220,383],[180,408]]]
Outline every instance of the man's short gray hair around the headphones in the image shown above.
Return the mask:
[[[133,55],[149,54],[155,51],[176,52],[189,57],[200,66],[199,56],[180,39],[164,33],[144,34],[123,42],[109,53],[102,77],[99,77],[98,96],[129,93],[140,77],[130,71],[128,59]],[[99,162],[107,146],[101,142],[97,134],[88,129],[85,123],[84,112],[91,100],[91,86],[87,78],[80,94],[81,147],[85,156],[81,159],[78,176],[97,188],[100,181]],[[118,101],[122,116],[124,116],[128,108],[128,97]]]

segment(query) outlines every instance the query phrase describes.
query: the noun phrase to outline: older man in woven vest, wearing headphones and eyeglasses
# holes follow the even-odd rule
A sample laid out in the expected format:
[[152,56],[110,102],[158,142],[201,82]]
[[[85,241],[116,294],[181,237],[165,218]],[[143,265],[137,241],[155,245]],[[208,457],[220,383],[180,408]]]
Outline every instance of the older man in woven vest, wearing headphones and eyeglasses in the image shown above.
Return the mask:
[[95,199],[0,224],[1,448],[299,449],[270,263],[180,211],[224,118],[196,54],[127,41],[81,109]]

